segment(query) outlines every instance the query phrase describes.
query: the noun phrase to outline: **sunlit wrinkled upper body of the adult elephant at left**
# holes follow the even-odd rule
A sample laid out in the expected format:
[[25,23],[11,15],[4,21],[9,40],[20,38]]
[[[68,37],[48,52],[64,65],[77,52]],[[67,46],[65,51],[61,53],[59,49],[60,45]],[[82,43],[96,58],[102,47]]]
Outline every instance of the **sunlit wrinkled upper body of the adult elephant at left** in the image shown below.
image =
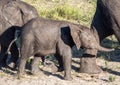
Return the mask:
[[22,26],[38,17],[33,6],[19,0],[0,0],[0,8],[0,35],[12,26]]

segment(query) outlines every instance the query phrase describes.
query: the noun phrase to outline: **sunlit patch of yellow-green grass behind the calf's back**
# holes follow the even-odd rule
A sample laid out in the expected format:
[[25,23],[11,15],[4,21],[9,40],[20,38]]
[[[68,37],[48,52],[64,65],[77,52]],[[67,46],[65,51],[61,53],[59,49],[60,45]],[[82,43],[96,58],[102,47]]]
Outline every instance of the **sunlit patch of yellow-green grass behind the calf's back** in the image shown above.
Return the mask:
[[96,0],[24,0],[45,18],[68,20],[90,26]]

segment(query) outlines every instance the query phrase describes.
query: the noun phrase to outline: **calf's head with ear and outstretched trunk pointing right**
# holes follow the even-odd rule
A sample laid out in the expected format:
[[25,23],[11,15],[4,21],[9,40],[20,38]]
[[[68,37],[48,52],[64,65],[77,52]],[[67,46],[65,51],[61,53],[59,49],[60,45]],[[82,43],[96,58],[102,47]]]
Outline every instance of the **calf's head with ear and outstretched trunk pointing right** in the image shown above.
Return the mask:
[[99,51],[113,51],[114,49],[108,49],[100,46],[99,40],[96,38],[97,31],[93,29],[89,29],[85,26],[81,25],[71,25],[71,36],[73,41],[79,49],[81,46],[86,49],[96,49]]

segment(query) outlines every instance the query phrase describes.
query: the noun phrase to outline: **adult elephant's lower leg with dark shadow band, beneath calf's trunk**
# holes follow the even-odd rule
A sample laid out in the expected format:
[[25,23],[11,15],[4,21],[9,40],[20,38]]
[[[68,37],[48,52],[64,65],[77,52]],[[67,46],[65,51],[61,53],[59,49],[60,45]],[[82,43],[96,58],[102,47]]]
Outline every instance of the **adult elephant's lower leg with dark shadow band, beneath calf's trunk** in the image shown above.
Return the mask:
[[87,49],[85,53],[80,61],[80,72],[90,74],[101,73],[101,68],[96,64],[97,50]]

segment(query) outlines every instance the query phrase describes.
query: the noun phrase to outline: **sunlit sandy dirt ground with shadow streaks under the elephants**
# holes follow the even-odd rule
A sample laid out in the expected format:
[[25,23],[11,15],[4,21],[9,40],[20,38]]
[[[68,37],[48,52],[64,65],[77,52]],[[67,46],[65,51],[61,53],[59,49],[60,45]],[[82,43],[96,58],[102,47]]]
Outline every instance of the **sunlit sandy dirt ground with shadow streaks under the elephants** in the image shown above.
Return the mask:
[[[120,55],[117,56],[120,58]],[[51,69],[53,64],[45,67],[41,66],[40,75],[24,75],[23,78],[16,78],[16,71],[4,69],[0,71],[0,85],[120,85],[120,63],[116,61],[106,61],[97,58],[97,64],[104,69],[100,74],[78,73],[80,67],[79,58],[72,59],[72,81],[63,80],[61,72],[54,73]]]

